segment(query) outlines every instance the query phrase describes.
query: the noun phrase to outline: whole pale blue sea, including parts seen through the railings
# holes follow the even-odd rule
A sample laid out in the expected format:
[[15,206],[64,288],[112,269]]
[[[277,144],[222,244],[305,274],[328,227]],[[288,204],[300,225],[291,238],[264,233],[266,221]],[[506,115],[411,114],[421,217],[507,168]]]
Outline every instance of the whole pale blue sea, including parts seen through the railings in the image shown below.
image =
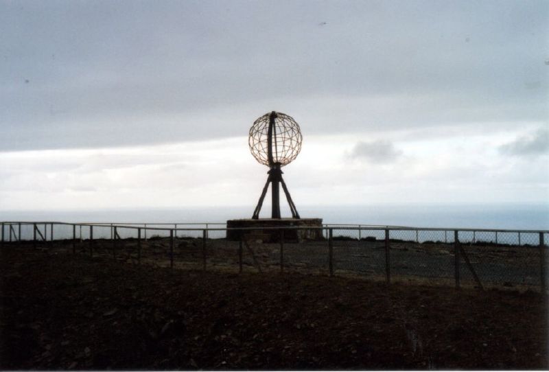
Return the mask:
[[[282,206],[281,206],[282,207]],[[322,218],[325,224],[360,225],[357,229],[345,230],[340,226],[334,236],[355,238],[373,236],[383,239],[383,230],[367,229],[367,226],[405,226],[414,228],[439,228],[445,231],[390,231],[391,238],[417,240],[417,242],[440,241],[452,242],[455,229],[502,229],[549,231],[549,204],[484,204],[484,205],[390,205],[372,204],[361,206],[302,206],[298,209],[302,218]],[[40,211],[0,211],[0,222],[69,222],[69,223],[102,223],[102,224],[141,224],[146,229],[145,236],[169,236],[163,229],[178,229],[176,237],[200,237],[198,229],[223,229],[226,220],[251,218],[251,207],[202,207],[202,208],[132,208],[132,209],[88,209],[88,210],[40,210]],[[265,205],[260,218],[268,218],[270,206]],[[282,207],[282,216],[291,216],[290,211]],[[163,224],[170,224],[165,226]],[[51,239],[51,224],[38,224],[40,233]],[[183,229],[197,229],[196,231]],[[447,230],[447,231],[446,231]],[[16,239],[19,226],[4,226],[5,240]],[[73,232],[71,225],[54,224],[56,239],[76,237],[87,239],[90,229],[78,226]],[[137,229],[119,228],[121,237],[137,237]],[[224,237],[224,231],[209,231],[209,237]],[[109,238],[113,236],[110,226],[95,226],[93,237]],[[549,241],[549,233],[544,234]],[[21,238],[32,240],[31,224],[21,226]],[[539,244],[539,233],[498,233],[495,232],[460,232],[462,242],[495,242],[506,244]]]

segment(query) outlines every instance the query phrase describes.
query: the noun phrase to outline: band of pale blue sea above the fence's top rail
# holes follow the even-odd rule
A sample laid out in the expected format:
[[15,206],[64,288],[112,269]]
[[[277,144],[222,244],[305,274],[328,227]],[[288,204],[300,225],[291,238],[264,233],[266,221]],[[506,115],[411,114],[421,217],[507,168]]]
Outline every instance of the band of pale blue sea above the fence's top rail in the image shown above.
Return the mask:
[[[5,210],[1,221],[113,222],[113,223],[196,223],[226,222],[251,218],[255,205],[235,207],[118,208]],[[364,224],[460,229],[549,230],[549,203],[491,203],[471,205],[372,204],[357,206],[297,206],[302,218],[323,218],[326,224]],[[282,207],[283,217],[291,216]],[[261,209],[270,217],[270,206]]]

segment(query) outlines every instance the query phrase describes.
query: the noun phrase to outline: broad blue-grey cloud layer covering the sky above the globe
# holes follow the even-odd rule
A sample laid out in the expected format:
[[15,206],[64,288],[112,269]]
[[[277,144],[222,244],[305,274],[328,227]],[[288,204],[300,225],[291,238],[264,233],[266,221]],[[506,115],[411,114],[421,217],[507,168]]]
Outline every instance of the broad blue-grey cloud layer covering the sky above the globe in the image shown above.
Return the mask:
[[546,117],[546,2],[222,4],[0,5],[0,150],[235,137],[273,109],[315,134]]

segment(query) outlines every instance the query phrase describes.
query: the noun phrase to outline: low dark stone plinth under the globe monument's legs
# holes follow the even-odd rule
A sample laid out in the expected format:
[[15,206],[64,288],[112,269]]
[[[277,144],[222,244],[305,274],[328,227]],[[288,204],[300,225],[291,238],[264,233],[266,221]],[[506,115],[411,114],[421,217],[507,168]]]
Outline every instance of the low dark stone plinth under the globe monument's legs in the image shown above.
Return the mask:
[[[227,229],[248,228],[253,230],[227,230],[227,240],[261,240],[264,243],[280,242],[281,231],[285,242],[303,242],[304,240],[324,240],[322,229],[280,229],[281,227],[307,226],[322,227],[322,218],[245,218],[228,220]],[[273,227],[278,229],[272,229]],[[271,229],[270,229],[271,228]]]

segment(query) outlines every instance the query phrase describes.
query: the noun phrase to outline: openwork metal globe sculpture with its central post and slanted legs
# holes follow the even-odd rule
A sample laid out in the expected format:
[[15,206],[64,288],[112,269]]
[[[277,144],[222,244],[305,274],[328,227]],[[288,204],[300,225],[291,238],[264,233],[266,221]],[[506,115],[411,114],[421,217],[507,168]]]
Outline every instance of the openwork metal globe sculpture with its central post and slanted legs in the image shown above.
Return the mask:
[[271,218],[280,218],[280,200],[279,200],[279,184],[282,185],[292,218],[299,218],[296,206],[292,201],[288,187],[282,178],[281,167],[290,164],[296,159],[301,150],[301,130],[296,121],[283,113],[272,111],[259,117],[254,121],[250,128],[250,136],[248,137],[248,145],[253,157],[259,163],[267,165],[270,169],[267,172],[268,178],[257,202],[257,207],[253,212],[252,218],[259,218],[259,211],[263,205],[263,200],[267,194],[269,184],[271,184],[272,192],[272,213]]

